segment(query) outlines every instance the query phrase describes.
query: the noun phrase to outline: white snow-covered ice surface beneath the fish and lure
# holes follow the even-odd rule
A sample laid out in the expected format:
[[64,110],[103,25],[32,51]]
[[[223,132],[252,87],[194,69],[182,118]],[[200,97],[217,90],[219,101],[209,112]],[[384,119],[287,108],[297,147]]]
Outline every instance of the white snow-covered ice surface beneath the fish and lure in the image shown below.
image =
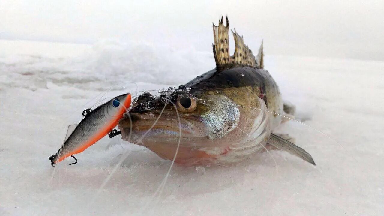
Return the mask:
[[283,98],[310,125],[289,121],[279,132],[317,166],[276,150],[230,166],[175,164],[161,190],[171,161],[119,136],[78,154],[76,165],[68,158],[54,169],[48,157],[100,98],[134,92],[134,83],[184,84],[214,68],[212,53],[116,41],[0,47],[2,216],[383,215],[384,62],[266,55]]

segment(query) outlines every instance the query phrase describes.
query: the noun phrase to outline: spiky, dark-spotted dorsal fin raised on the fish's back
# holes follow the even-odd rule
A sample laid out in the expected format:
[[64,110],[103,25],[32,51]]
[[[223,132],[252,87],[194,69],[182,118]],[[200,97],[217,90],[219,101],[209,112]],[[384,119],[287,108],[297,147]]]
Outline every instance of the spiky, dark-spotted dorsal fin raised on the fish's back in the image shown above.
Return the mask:
[[[243,36],[240,36],[235,29],[233,32],[233,37],[235,38],[235,53],[233,56],[229,55],[229,42],[228,42],[228,31],[229,31],[229,22],[228,17],[227,25],[224,26],[223,17],[218,22],[218,26],[213,24],[214,28],[214,57],[216,61],[217,67],[222,67],[225,65],[242,65],[242,66],[250,66],[256,68],[263,68],[258,64],[255,56],[252,53],[252,50],[248,48],[247,45],[244,44]],[[261,58],[261,63],[263,59]]]

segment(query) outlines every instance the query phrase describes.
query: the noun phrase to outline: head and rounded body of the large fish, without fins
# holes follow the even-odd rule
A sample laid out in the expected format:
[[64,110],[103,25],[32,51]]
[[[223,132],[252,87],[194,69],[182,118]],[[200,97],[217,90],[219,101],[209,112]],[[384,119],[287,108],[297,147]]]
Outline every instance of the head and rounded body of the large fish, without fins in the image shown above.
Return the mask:
[[[180,111],[183,96],[196,108]],[[191,80],[179,89],[170,89],[162,98],[133,105],[132,142],[139,141],[165,105],[168,97],[179,108],[182,136],[176,162],[184,164],[235,162],[263,149],[271,131],[280,125],[283,102],[268,71],[252,67],[216,68]],[[194,99],[199,98],[199,100]],[[188,102],[188,101],[187,101]],[[119,128],[130,130],[128,119]],[[157,124],[141,140],[163,158],[172,160],[179,140],[175,108],[168,103]]]

